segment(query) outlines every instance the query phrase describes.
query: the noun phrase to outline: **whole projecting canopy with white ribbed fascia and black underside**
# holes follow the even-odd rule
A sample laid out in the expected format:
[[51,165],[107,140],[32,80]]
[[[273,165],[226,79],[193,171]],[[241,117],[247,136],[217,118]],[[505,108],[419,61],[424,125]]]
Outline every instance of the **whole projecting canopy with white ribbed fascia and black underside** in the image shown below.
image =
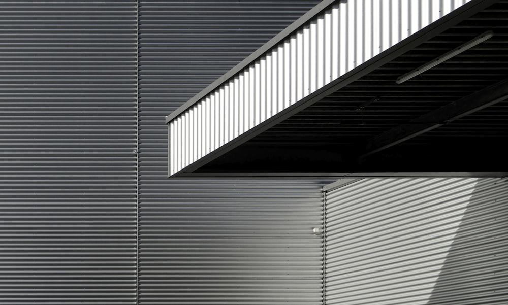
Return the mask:
[[321,3],[168,116],[170,176],[505,170],[508,1],[363,3]]

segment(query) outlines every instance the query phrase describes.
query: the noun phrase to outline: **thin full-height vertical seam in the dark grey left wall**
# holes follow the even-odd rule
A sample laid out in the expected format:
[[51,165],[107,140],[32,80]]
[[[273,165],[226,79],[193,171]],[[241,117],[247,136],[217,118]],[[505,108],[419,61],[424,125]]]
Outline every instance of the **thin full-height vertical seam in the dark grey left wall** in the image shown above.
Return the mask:
[[138,305],[139,247],[139,0],[136,1],[136,305]]

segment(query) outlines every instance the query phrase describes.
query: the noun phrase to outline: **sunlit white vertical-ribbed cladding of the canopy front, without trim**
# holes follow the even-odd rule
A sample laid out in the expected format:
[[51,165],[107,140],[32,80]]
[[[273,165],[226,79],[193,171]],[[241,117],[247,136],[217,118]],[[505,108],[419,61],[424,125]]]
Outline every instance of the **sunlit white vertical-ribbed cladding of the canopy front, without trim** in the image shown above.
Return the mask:
[[[182,131],[189,137],[187,140],[190,141],[194,134],[201,134],[202,138],[196,141],[202,143],[207,135],[195,130],[194,117],[190,113],[203,111],[202,104],[210,103],[210,133],[219,137],[204,151],[192,150],[192,145],[171,147],[170,156],[175,154],[185,158],[181,164],[169,166],[169,175],[194,163],[190,160],[198,160],[231,142],[466,2],[389,0],[383,5],[378,0],[337,2],[178,116],[182,128],[189,128]],[[242,85],[238,82],[240,78],[248,82]],[[280,82],[272,84],[273,80]],[[246,87],[250,94],[244,98],[236,97],[235,91],[245,91]],[[234,119],[222,115],[227,110],[224,100],[230,101],[231,108],[239,108],[242,104],[250,106],[238,114],[248,120],[244,130],[224,132],[235,130]]]

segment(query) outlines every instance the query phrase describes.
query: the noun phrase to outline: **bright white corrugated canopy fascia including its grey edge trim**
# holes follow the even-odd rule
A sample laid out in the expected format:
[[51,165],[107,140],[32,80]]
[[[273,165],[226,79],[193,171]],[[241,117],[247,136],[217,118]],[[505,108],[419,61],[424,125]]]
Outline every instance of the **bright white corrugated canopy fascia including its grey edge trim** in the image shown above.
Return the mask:
[[275,38],[166,118],[168,175],[192,170],[256,134],[264,123],[467,2],[322,2],[324,12],[302,17],[293,32]]

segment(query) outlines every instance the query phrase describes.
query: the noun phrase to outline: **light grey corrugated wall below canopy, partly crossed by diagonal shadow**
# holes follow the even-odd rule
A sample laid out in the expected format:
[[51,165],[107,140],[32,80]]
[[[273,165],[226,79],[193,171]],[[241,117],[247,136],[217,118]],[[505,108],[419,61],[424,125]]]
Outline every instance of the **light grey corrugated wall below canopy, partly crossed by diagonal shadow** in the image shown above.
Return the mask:
[[326,201],[326,304],[508,302],[506,179],[364,179]]

